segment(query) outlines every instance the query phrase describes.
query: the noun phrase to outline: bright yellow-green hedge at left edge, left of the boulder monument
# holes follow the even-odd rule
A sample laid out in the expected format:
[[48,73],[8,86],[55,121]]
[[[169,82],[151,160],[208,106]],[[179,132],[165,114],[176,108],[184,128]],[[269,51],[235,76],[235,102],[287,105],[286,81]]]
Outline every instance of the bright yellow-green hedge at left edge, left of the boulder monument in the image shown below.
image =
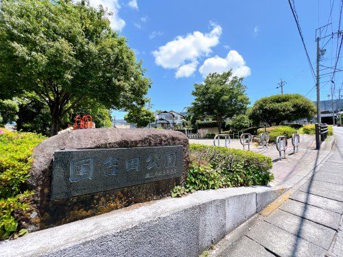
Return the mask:
[[4,133],[0,134],[0,238],[5,239],[26,232],[15,216],[29,209],[32,192],[23,185],[29,177],[32,151],[45,137],[1,130]]

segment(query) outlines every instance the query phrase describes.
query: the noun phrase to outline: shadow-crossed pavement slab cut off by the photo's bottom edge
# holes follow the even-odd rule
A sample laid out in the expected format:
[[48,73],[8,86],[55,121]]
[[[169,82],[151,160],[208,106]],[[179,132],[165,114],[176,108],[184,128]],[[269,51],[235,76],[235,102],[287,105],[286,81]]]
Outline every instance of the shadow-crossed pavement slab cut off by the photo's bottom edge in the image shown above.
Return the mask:
[[278,256],[324,256],[326,250],[265,221],[247,236]]

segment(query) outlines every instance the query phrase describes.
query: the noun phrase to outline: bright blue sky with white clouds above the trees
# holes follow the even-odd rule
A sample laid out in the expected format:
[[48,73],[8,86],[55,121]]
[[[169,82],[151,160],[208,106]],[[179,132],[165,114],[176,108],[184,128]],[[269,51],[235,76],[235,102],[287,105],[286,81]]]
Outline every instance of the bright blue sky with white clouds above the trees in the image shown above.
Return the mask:
[[[338,27],[340,12],[340,0],[335,1],[333,30]],[[294,2],[315,65],[315,29],[327,23],[330,1]],[[137,58],[143,60],[146,75],[153,82],[148,93],[152,110],[182,111],[191,105],[194,83],[202,82],[209,71],[232,67],[237,75],[245,77],[252,103],[279,93],[276,86],[281,78],[287,82],[285,93],[306,95],[315,84],[287,0],[91,3],[102,3],[113,12],[112,27],[127,38]],[[331,58],[331,47],[335,51],[335,44],[334,41],[327,45],[325,58]],[[340,73],[336,80],[342,83]],[[322,99],[327,99],[328,93],[329,84],[322,88]],[[307,97],[314,100],[315,91]],[[115,115],[117,119],[123,118],[122,112],[115,111]]]

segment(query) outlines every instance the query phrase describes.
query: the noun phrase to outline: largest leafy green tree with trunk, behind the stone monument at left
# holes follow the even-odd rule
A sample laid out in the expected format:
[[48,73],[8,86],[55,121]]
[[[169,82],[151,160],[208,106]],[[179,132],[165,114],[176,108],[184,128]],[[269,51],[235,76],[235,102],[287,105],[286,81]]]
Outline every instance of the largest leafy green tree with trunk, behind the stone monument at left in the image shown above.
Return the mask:
[[107,109],[143,106],[150,79],[108,15],[87,1],[2,0],[0,98],[38,95],[49,108],[51,135],[84,101]]

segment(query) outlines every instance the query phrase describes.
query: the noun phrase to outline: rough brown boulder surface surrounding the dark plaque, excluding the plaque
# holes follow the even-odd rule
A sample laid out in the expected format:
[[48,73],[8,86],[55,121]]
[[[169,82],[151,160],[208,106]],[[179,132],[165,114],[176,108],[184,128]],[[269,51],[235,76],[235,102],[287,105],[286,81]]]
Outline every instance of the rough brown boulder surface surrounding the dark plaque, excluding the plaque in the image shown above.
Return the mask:
[[[51,201],[51,164],[54,151],[62,149],[106,149],[152,147],[164,145],[183,146],[183,174],[169,178],[117,188],[99,193]],[[161,199],[169,195],[174,186],[185,182],[189,153],[188,139],[181,132],[172,130],[75,130],[53,136],[34,149],[34,162],[30,171],[28,187],[35,191],[29,230],[49,228],[78,219],[99,215],[134,203]]]

